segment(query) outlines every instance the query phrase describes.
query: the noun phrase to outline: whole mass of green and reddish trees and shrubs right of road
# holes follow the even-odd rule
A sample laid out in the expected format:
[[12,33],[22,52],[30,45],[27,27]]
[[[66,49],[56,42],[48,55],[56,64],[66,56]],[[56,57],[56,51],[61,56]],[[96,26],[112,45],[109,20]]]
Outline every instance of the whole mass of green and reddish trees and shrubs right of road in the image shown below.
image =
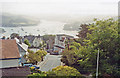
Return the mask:
[[[108,74],[110,76],[120,76],[120,35],[118,32],[118,21],[113,19],[97,20],[94,19],[93,24],[83,25],[79,32],[79,39],[75,42],[82,46],[79,48],[65,49],[62,54],[62,61],[66,65],[77,68],[81,73],[96,73],[96,58],[98,49],[99,57],[99,75]],[[87,29],[86,29],[87,28]],[[85,32],[83,31],[84,29]],[[72,57],[72,58],[71,58]]]

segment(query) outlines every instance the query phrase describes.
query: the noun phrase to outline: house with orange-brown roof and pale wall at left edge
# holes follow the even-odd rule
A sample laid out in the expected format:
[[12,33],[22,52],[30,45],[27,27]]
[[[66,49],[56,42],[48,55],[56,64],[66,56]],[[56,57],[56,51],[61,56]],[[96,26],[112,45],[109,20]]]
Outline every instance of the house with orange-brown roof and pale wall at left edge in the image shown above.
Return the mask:
[[0,68],[18,67],[20,62],[16,40],[0,40]]

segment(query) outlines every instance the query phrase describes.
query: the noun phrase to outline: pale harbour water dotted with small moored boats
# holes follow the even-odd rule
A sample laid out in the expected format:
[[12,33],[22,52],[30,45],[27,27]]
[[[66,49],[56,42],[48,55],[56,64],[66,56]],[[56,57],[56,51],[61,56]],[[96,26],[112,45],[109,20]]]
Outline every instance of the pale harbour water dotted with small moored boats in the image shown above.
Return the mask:
[[63,30],[63,22],[40,20],[37,26],[24,26],[24,27],[0,27],[6,32],[1,36],[9,37],[12,33],[18,33],[20,36],[24,35],[46,35],[46,34],[67,34],[76,37],[78,31]]

